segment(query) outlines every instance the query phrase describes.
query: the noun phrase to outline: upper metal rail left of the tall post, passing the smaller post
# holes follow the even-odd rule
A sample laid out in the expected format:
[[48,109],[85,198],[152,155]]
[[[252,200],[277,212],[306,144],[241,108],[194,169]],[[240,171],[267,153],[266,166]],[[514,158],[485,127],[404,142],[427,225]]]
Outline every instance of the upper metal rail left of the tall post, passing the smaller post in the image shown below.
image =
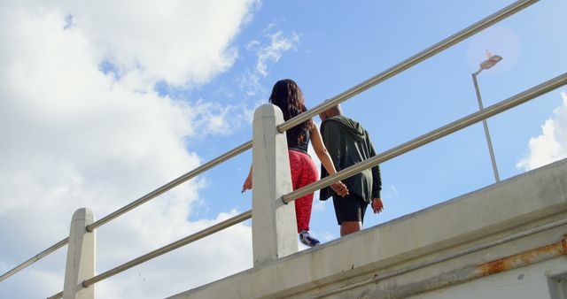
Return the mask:
[[[168,182],[166,185],[151,191],[149,194],[147,194],[145,196],[140,197],[136,201],[134,201],[132,203],[128,203],[127,205],[120,208],[119,210],[113,211],[113,213],[111,213],[111,214],[105,216],[104,218],[99,219],[98,221],[87,226],[86,229],[87,229],[87,231],[92,232],[95,228],[105,225],[105,223],[107,223],[107,222],[109,222],[113,219],[116,219],[120,215],[126,213],[127,211],[130,211],[130,210],[136,208],[137,206],[141,205],[142,203],[145,203],[145,202],[151,200],[152,198],[155,198],[155,197],[167,192],[168,190],[175,188],[176,186],[182,184],[183,182],[198,176],[198,174],[204,173],[207,170],[213,168],[215,165],[219,165],[222,162],[228,160],[229,158],[235,157],[238,154],[244,152],[245,150],[248,150],[248,149],[251,149],[251,148],[252,148],[252,141],[248,141],[248,142],[245,142],[245,143],[237,146],[234,149],[230,149],[226,153],[222,154],[219,157],[215,157],[213,160],[207,162],[206,164],[198,166],[197,168],[193,169],[189,173],[185,173],[182,176],[178,177],[177,179]],[[13,274],[21,271],[22,269],[26,268],[27,266],[34,264],[35,262],[40,260],[42,257],[45,257],[48,254],[50,254],[51,252],[63,247],[64,245],[66,245],[67,242],[69,242],[68,237],[66,239],[63,239],[62,241],[56,243],[55,245],[51,246],[49,249],[43,250],[40,254],[36,255],[35,257],[28,259],[26,262],[18,265],[17,267],[13,268],[12,270],[5,272],[2,276],[0,276],[0,281],[7,279],[8,277],[10,277]]]

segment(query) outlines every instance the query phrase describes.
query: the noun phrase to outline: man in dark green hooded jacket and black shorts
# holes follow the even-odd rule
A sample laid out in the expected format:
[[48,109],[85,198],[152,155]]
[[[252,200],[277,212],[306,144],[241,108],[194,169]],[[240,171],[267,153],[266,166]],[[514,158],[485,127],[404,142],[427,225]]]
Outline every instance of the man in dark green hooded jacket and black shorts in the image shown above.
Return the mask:
[[[368,132],[360,123],[343,116],[340,106],[323,111],[319,117],[322,120],[322,141],[329,151],[337,172],[376,156]],[[321,178],[326,176],[328,173],[322,167]],[[338,196],[329,187],[323,188],[320,194],[321,200],[333,197],[341,236],[361,230],[364,212],[369,203],[375,214],[384,209],[384,204],[380,199],[382,180],[380,180],[378,165],[355,174],[343,182],[348,188],[348,196]]]

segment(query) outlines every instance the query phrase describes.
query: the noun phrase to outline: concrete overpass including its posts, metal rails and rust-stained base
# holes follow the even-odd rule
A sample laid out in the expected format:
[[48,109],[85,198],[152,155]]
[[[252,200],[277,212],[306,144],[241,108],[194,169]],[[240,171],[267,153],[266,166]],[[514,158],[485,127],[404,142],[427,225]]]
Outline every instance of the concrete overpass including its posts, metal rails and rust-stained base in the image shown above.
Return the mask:
[[[293,119],[283,122],[275,106],[260,106],[254,114],[252,141],[102,219],[95,221],[86,208],[76,211],[68,237],[5,272],[0,282],[68,244],[63,291],[49,298],[92,299],[97,282],[252,218],[252,269],[171,298],[567,298],[563,235],[567,234],[567,160],[302,252],[298,252],[293,204],[287,204],[566,85],[567,73],[560,74],[291,190],[283,132],[537,2],[518,0]],[[252,211],[96,274],[98,227],[248,149],[253,156]]]

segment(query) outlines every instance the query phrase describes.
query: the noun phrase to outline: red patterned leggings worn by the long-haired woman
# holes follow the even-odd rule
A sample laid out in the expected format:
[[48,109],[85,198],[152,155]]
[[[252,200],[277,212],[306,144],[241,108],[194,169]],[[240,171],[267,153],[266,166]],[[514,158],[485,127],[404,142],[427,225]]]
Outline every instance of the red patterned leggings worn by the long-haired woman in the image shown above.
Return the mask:
[[[291,185],[293,189],[305,187],[315,180],[319,180],[317,166],[306,153],[289,149]],[[295,200],[295,217],[298,222],[298,233],[309,230],[311,208],[313,206],[313,193]]]

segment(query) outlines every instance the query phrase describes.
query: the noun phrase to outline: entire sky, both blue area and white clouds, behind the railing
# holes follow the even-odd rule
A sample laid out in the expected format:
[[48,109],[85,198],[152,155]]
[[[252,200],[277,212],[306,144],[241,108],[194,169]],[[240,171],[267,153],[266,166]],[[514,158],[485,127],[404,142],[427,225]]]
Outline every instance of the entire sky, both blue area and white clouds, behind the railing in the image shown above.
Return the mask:
[[[0,272],[63,239],[76,209],[100,219],[251,140],[253,109],[276,80],[296,80],[314,107],[511,3],[0,1]],[[554,78],[567,70],[565,12],[563,0],[533,4],[353,97],[346,115],[381,152],[477,111],[470,74],[485,49],[504,58],[478,76],[485,106]],[[565,91],[488,119],[502,180],[567,157]],[[97,272],[249,210],[251,156],[98,229]],[[367,212],[365,227],[493,184],[480,124],[381,167],[385,211]],[[311,230],[338,237],[330,202],[315,200]],[[1,282],[0,297],[60,291],[65,253]],[[165,297],[251,266],[248,221],[105,280],[97,295]]]

